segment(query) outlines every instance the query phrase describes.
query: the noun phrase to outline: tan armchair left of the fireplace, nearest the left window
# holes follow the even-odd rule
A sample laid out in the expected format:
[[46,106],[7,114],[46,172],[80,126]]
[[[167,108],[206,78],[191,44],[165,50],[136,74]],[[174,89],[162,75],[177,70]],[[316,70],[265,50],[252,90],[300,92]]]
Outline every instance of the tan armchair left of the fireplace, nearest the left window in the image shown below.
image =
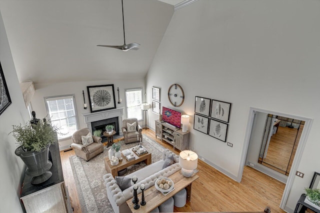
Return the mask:
[[75,155],[82,157],[86,161],[103,152],[101,137],[92,135],[93,142],[91,144],[87,146],[82,144],[81,136],[86,136],[89,132],[90,130],[88,128],[82,128],[75,131],[71,137],[73,141],[73,143],[71,144],[71,148],[73,148]]

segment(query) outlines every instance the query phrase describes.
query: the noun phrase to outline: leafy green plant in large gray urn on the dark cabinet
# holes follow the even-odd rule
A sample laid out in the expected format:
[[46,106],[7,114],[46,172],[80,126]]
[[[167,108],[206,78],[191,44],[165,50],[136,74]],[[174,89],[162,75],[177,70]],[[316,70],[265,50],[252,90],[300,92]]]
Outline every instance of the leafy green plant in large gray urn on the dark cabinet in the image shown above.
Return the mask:
[[23,126],[12,125],[12,128],[10,133],[18,144],[14,153],[26,164],[25,173],[32,176],[31,183],[38,184],[50,178],[52,173],[48,170],[52,163],[48,161],[48,148],[57,140],[58,128],[45,119]]

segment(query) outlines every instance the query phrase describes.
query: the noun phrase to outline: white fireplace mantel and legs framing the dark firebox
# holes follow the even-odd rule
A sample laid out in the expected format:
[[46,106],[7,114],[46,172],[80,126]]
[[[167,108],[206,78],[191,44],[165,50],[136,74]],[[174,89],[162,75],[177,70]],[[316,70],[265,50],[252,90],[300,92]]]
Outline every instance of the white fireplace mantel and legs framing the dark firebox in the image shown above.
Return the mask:
[[87,127],[92,129],[91,122],[98,121],[98,120],[104,120],[108,118],[118,117],[118,123],[119,123],[119,135],[122,135],[122,115],[123,115],[124,107],[120,108],[113,108],[108,109],[105,111],[97,111],[92,113],[84,113],[82,114],[84,118],[84,122],[86,123]]

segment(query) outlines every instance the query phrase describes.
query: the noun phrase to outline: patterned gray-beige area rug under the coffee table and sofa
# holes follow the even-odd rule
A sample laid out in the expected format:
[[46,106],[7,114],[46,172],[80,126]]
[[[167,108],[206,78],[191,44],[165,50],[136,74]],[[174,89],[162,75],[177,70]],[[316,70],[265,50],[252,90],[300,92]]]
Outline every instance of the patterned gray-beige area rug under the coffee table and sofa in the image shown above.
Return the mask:
[[[164,147],[150,139],[145,134],[142,135],[142,145],[151,152],[152,163],[162,158]],[[121,150],[131,148],[137,143],[124,144],[121,140]],[[106,174],[104,168],[105,156],[108,156],[109,147],[104,146],[103,153],[93,157],[89,161],[78,156],[70,156],[69,161],[78,192],[78,198],[82,212],[113,212],[112,206],[106,195],[106,188],[102,176]],[[132,173],[145,166],[144,162],[140,162],[129,166],[124,175]]]

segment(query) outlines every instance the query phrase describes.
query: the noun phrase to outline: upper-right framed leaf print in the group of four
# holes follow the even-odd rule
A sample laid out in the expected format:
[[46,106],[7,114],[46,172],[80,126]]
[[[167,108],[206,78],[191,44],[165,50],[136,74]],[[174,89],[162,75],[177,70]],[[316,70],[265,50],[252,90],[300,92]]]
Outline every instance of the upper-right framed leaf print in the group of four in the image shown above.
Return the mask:
[[223,122],[229,122],[231,103],[223,102],[219,100],[211,100],[211,115],[210,117],[221,120]]

